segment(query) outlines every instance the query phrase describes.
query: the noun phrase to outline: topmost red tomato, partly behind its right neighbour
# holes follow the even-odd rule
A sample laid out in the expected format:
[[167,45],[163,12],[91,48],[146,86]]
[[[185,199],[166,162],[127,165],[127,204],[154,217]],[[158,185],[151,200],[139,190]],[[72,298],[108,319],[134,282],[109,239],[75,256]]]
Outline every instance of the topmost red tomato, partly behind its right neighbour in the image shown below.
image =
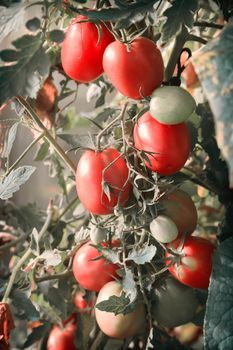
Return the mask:
[[74,80],[88,83],[103,73],[102,58],[105,48],[114,37],[105,25],[100,24],[102,35],[96,25],[77,16],[69,25],[61,48],[61,62],[65,73]]

